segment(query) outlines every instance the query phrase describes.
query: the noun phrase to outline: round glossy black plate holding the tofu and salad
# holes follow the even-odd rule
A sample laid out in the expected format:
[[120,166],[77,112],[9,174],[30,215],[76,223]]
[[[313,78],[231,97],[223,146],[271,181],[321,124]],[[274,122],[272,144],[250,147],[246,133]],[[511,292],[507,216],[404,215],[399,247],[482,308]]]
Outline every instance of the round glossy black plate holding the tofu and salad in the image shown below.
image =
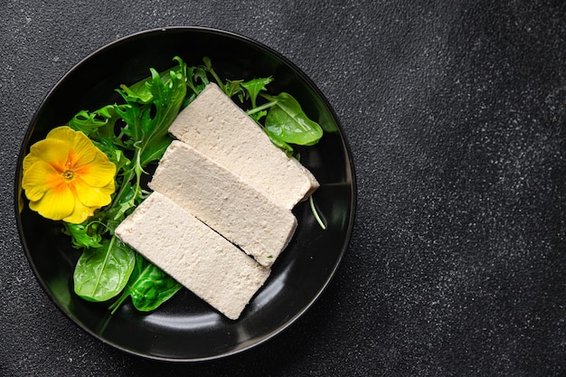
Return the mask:
[[273,76],[273,93],[288,91],[310,118],[325,127],[316,146],[302,150],[301,161],[321,187],[315,194],[326,231],[317,225],[307,203],[294,212],[299,226],[274,264],[266,285],[237,321],[217,313],[191,292],[181,290],[156,311],[139,313],[126,304],[109,316],[108,303],[75,296],[72,271],[77,250],[61,234],[61,223],[31,212],[16,189],[16,218],[24,251],[35,276],[53,302],[77,325],[101,341],[127,353],[170,361],[197,361],[239,353],[277,335],[304,314],[333,277],[347,248],[354,223],[354,168],[343,132],[320,90],[290,61],[258,42],[204,28],[167,28],[137,33],[113,42],[81,61],[42,102],[27,131],[16,180],[29,147],[81,109],[96,109],[118,99],[120,84],[175,66],[180,56],[188,65],[209,56],[227,79]]

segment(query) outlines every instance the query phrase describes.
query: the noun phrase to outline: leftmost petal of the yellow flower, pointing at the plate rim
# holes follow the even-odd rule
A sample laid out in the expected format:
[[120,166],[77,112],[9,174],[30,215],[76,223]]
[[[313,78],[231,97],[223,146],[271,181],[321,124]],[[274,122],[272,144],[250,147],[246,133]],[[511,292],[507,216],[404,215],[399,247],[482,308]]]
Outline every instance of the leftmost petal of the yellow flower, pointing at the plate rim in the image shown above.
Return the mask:
[[25,190],[25,196],[32,202],[39,201],[46,192],[59,184],[64,184],[61,174],[42,160],[24,170],[22,188]]

